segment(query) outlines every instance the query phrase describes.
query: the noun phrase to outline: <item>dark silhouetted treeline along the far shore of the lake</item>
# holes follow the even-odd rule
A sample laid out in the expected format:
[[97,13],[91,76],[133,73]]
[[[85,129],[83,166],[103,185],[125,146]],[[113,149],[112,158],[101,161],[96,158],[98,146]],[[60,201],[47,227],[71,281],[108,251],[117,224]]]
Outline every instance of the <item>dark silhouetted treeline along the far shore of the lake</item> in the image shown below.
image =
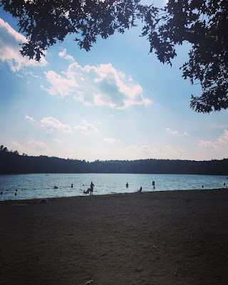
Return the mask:
[[19,155],[0,146],[0,174],[19,173],[153,173],[228,175],[228,159],[195,160],[71,160]]

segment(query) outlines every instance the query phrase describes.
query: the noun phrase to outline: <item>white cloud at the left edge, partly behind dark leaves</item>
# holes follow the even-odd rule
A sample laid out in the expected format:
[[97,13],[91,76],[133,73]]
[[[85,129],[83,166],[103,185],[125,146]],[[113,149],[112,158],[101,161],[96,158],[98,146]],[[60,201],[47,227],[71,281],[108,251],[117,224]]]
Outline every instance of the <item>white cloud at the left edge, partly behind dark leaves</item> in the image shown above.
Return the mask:
[[27,39],[21,33],[11,28],[0,18],[0,61],[6,61],[11,71],[19,71],[28,66],[45,66],[47,61],[41,57],[41,61],[29,59],[28,56],[21,56],[19,43],[26,43]]

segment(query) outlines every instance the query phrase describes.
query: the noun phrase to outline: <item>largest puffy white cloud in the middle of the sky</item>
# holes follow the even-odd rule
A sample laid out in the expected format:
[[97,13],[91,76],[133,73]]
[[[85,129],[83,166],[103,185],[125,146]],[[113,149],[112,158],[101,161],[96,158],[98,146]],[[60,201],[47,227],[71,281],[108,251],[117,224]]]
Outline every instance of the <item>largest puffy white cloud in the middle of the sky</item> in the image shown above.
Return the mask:
[[79,66],[72,63],[67,72],[45,73],[49,83],[44,88],[51,95],[73,96],[86,105],[108,105],[110,108],[125,109],[130,105],[149,105],[152,101],[143,98],[142,87],[126,80],[125,74],[116,71],[110,64]]

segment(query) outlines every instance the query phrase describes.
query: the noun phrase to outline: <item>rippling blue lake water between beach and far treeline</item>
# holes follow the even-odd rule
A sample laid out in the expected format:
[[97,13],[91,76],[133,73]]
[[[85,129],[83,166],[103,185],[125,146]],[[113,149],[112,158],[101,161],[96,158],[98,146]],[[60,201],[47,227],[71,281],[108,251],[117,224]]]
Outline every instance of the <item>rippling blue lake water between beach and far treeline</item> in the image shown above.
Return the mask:
[[[117,192],[135,192],[142,186],[142,192],[163,190],[194,190],[227,187],[226,176],[219,175],[152,175],[152,174],[27,174],[0,175],[0,200],[33,199],[48,197],[71,197],[83,195],[83,190],[93,181],[94,195]],[[128,189],[125,187],[128,182]],[[73,183],[73,188],[71,188]],[[226,186],[224,186],[226,183]],[[54,189],[57,186],[58,189]],[[15,190],[17,195],[15,196]]]

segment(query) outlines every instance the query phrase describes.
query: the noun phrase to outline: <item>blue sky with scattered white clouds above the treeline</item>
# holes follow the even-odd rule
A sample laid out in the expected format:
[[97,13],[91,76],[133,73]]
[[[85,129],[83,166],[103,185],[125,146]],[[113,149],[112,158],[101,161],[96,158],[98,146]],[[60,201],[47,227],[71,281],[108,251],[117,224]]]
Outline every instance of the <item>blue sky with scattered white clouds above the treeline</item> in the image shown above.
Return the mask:
[[0,10],[0,143],[9,150],[88,161],[228,157],[227,110],[190,109],[201,88],[182,78],[189,46],[177,47],[171,68],[133,28],[89,52],[68,36],[37,63],[20,55],[16,24]]

